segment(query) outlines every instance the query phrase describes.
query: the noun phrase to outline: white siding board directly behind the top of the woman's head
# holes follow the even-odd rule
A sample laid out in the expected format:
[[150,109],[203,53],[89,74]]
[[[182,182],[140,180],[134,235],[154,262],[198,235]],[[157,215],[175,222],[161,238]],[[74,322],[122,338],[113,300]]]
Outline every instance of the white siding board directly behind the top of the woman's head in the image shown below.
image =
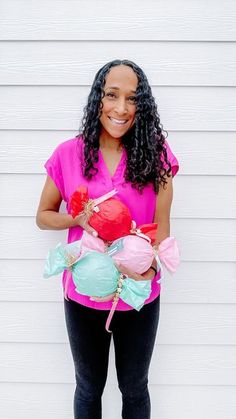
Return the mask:
[[1,84],[90,85],[114,51],[140,65],[152,85],[236,85],[234,43],[143,41],[2,41]]

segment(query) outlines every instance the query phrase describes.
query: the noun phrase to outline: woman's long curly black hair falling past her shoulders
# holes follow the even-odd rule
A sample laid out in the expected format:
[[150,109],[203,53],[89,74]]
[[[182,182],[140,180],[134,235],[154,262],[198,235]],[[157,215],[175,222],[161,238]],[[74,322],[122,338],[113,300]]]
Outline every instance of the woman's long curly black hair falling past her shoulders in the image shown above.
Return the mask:
[[[76,136],[82,136],[84,141],[84,176],[91,179],[98,171],[94,164],[98,162],[103,88],[106,75],[112,67],[119,65],[131,67],[138,78],[135,122],[121,138],[127,152],[125,180],[131,182],[132,186],[139,191],[142,191],[145,185],[152,183],[155,192],[158,193],[159,185],[165,186],[166,176],[170,176],[171,172],[164,145],[168,133],[163,130],[160,123],[157,105],[145,73],[137,64],[129,60],[113,60],[105,64],[95,75],[87,105],[84,107],[79,134]],[[166,137],[163,132],[166,133]]]

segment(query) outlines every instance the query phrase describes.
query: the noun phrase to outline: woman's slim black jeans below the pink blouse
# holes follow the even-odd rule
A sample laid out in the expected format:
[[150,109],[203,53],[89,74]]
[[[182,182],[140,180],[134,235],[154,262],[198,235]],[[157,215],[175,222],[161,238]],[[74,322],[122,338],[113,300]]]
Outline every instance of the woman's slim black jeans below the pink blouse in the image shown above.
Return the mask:
[[[66,326],[75,365],[75,419],[101,419],[111,333],[108,311],[64,299]],[[138,312],[116,311],[112,330],[123,419],[149,419],[148,370],[159,320],[160,296]]]

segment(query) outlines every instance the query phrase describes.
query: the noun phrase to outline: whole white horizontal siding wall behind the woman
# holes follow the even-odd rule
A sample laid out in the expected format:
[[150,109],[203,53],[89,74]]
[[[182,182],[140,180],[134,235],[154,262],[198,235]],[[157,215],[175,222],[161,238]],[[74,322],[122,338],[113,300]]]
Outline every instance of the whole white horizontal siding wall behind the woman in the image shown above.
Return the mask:
[[[95,71],[146,71],[180,161],[150,373],[153,419],[236,417],[236,3],[1,0],[1,419],[72,418],[74,374],[60,280],[35,211],[56,144],[74,136]],[[4,199],[3,199],[4,196]],[[120,418],[113,347],[104,419]],[[83,418],[81,418],[83,419]]]

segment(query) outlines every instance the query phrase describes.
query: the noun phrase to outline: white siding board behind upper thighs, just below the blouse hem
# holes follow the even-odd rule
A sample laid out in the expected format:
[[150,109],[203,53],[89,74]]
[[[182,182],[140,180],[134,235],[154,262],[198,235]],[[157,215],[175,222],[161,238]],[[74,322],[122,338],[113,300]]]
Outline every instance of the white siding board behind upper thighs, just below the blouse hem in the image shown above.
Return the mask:
[[[158,343],[235,345],[235,324],[233,304],[162,304]],[[67,343],[63,303],[1,303],[0,330],[1,342]]]

